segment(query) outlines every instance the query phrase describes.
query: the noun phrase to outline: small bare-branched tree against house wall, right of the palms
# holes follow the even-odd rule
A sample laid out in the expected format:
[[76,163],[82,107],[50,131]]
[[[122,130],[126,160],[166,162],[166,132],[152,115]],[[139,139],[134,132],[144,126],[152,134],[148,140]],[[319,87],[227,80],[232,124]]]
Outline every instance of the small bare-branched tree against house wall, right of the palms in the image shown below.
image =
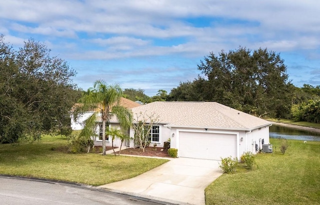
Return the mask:
[[150,131],[152,126],[159,122],[159,116],[155,113],[146,112],[135,113],[136,122],[133,123],[134,142],[139,145],[139,149],[144,152],[145,147],[150,144]]

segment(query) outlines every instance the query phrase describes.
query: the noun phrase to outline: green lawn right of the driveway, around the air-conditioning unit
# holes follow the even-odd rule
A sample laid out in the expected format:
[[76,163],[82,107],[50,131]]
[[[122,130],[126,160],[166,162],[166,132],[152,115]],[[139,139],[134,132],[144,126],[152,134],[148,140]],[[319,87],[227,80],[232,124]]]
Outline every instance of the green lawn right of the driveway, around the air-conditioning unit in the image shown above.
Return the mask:
[[279,140],[270,139],[274,153],[258,154],[255,170],[215,180],[205,190],[206,205],[319,205],[320,142],[288,142],[282,155]]

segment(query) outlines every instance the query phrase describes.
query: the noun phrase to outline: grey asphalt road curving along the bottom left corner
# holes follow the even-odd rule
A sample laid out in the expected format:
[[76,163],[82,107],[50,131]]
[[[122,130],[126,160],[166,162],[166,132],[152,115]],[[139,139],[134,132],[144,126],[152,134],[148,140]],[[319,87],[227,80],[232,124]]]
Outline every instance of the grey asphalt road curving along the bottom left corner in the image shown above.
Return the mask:
[[1,205],[159,205],[167,204],[121,195],[95,187],[0,176]]

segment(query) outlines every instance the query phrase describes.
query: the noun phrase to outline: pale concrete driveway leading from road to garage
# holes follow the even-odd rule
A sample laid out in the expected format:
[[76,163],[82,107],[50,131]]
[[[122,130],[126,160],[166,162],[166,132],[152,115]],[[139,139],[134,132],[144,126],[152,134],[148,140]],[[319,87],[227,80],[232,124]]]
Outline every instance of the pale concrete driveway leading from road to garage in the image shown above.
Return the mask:
[[135,178],[101,187],[172,204],[204,205],[204,189],[220,175],[218,161],[177,158]]

